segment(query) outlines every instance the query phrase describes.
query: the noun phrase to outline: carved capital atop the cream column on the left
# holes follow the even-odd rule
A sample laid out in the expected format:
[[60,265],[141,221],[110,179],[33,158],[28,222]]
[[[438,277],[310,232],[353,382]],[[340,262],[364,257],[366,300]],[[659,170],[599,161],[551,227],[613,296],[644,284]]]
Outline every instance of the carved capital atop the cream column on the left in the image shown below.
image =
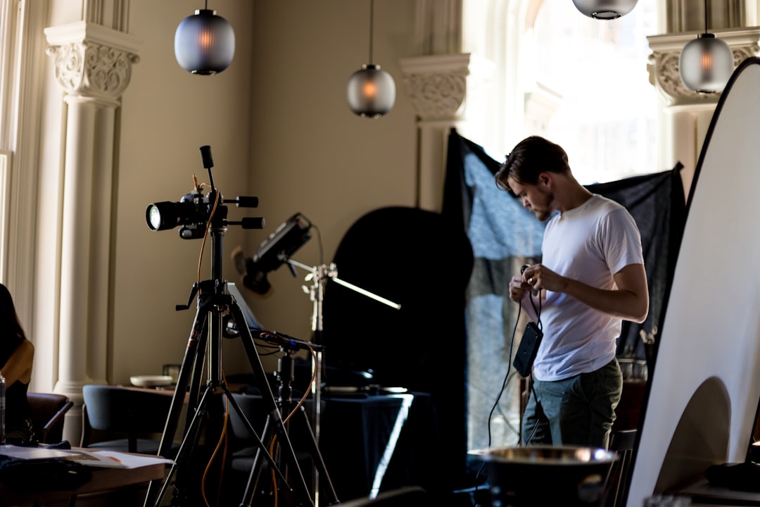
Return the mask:
[[46,28],[45,35],[46,52],[55,57],[55,78],[68,95],[118,106],[131,65],[140,61],[140,41],[86,21]]

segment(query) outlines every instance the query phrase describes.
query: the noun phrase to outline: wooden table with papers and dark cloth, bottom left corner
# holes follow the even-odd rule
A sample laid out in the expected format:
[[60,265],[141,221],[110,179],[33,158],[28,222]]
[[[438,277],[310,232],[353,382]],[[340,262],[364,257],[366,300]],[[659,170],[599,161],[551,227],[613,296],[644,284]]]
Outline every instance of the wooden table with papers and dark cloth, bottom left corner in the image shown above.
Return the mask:
[[[137,468],[92,468],[92,479],[76,490],[65,491],[17,491],[12,486],[0,483],[0,507],[21,505],[75,505],[80,496],[92,496],[97,493],[109,493],[118,490],[134,490],[135,486],[147,484],[151,480],[163,480],[166,467],[163,463],[148,464]],[[42,479],[41,479],[42,480]],[[119,505],[137,505],[132,496],[125,497],[128,503]],[[87,505],[93,505],[87,502]],[[103,505],[114,505],[106,500]],[[141,502],[140,502],[141,505]]]

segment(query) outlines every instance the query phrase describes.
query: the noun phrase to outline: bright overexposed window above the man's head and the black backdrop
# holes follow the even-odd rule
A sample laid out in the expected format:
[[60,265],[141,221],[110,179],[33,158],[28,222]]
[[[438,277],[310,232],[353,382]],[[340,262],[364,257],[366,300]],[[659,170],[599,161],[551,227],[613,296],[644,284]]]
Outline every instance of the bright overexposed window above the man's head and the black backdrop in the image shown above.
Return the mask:
[[639,0],[614,21],[544,0],[527,33],[527,134],[562,145],[583,184],[660,170],[657,91],[647,70],[656,23],[655,0]]

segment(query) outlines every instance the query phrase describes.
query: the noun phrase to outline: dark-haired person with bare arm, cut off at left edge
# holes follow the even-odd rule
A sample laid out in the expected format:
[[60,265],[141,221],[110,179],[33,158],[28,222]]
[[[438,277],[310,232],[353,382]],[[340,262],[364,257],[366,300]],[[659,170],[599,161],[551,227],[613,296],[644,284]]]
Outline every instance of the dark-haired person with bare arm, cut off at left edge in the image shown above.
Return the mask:
[[34,346],[27,340],[11,293],[0,284],[0,373],[5,377],[5,442],[34,441],[27,389],[32,378]]

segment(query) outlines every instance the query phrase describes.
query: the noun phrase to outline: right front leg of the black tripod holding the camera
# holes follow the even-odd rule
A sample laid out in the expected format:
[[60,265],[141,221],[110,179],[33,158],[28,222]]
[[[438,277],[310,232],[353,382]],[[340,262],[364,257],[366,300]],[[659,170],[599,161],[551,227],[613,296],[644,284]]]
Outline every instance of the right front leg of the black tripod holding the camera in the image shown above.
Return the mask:
[[287,435],[283,420],[280,415],[280,408],[277,407],[277,402],[274,401],[274,395],[269,386],[267,375],[264,373],[264,366],[261,366],[261,359],[258,357],[256,346],[253,343],[253,337],[251,336],[251,330],[248,325],[245,324],[245,317],[242,315],[242,311],[237,303],[230,304],[230,314],[237,325],[242,340],[245,352],[248,354],[249,362],[253,369],[253,373],[258,382],[258,388],[261,391],[261,399],[265,404],[268,404],[267,414],[270,417],[272,423],[274,423],[274,429],[277,432],[277,438],[280,439],[280,447],[283,449],[286,457],[290,460],[290,465],[293,470],[296,471],[297,485],[301,490],[304,499],[308,500],[308,505],[314,505],[311,493],[309,493],[309,486],[306,485],[306,480],[303,477],[301,467],[296,459],[296,452],[293,450],[293,445],[290,443],[290,438]]

